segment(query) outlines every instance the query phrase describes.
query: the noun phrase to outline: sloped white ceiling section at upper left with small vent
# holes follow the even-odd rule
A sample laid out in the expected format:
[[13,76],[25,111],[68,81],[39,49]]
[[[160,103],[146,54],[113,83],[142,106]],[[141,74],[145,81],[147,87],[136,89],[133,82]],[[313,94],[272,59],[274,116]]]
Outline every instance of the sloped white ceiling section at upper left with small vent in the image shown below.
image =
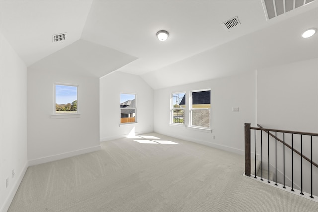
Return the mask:
[[[80,39],[91,1],[1,0],[1,34],[27,66]],[[52,42],[52,35],[67,39]]]

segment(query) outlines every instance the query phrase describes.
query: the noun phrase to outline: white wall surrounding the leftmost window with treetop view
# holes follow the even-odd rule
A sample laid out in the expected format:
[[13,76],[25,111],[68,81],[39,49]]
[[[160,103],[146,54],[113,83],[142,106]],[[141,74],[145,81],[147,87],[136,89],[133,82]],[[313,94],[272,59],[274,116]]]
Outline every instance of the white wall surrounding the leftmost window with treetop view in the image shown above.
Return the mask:
[[[28,159],[30,165],[100,149],[99,78],[58,54],[28,67]],[[79,118],[52,119],[54,83],[77,84]]]

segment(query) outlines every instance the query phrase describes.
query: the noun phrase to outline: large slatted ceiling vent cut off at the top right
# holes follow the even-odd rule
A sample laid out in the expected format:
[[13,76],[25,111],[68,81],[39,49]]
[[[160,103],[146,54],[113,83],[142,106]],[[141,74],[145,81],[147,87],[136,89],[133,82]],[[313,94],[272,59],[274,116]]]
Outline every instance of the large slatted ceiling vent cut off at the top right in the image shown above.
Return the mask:
[[262,0],[266,19],[272,19],[314,0]]

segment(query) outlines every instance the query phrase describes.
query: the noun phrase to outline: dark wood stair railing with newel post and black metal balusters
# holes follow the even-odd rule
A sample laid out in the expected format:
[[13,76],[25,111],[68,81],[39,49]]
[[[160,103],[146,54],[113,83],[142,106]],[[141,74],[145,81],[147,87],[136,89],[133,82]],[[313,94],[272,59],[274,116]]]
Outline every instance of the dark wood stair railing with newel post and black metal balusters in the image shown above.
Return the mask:
[[[283,188],[285,187],[285,146],[287,146],[288,148],[290,148],[292,151],[292,157],[291,157],[291,163],[292,163],[292,188],[291,191],[294,191],[293,185],[293,174],[294,174],[294,170],[293,170],[293,152],[297,153],[300,155],[300,164],[301,164],[301,168],[300,168],[300,172],[301,172],[301,195],[303,194],[303,161],[302,159],[304,158],[305,160],[307,160],[308,162],[310,162],[310,175],[311,175],[311,184],[310,184],[310,188],[311,188],[311,194],[310,197],[313,197],[313,166],[316,166],[318,168],[318,165],[313,162],[313,148],[312,148],[312,144],[313,144],[313,137],[318,137],[317,133],[308,133],[308,132],[299,132],[299,131],[287,131],[287,130],[277,130],[277,129],[270,129],[270,128],[263,128],[260,125],[258,125],[259,127],[251,127],[250,123],[245,123],[245,175],[246,176],[251,176],[251,130],[254,130],[254,157],[255,157],[255,172],[256,172],[256,131],[260,131],[261,133],[261,180],[263,180],[263,136],[262,136],[262,132],[266,132],[268,134],[267,136],[267,142],[269,145],[269,136],[272,136],[275,139],[275,175],[276,175],[276,179],[275,179],[275,185],[277,186],[277,141],[281,142],[283,144]],[[270,132],[274,132],[275,135],[273,135]],[[277,138],[277,133],[283,133],[283,140]],[[287,143],[285,143],[285,134],[291,134],[291,146],[288,145]],[[300,135],[300,152],[297,151],[296,149],[293,148],[293,135]],[[303,155],[303,136],[310,136],[310,159],[307,158],[306,156]],[[270,163],[269,163],[269,151],[270,148],[268,146],[268,183],[270,183],[269,181],[269,173],[270,173]],[[316,152],[317,154],[318,152]],[[256,173],[255,173],[255,178],[256,177]]]

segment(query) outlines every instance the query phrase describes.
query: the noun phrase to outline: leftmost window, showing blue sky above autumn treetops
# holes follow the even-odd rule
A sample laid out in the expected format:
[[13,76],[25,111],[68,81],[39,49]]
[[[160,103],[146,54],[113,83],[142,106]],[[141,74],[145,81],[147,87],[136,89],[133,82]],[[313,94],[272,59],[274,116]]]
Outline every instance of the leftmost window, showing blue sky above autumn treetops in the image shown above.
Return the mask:
[[55,114],[78,113],[78,86],[55,84]]

